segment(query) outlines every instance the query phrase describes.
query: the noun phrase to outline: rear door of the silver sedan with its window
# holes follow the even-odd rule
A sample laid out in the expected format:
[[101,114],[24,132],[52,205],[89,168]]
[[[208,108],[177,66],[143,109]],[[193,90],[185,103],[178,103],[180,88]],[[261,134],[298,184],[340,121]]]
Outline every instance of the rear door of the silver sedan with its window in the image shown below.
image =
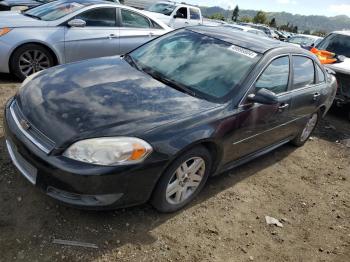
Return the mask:
[[162,33],[164,30],[148,17],[120,9],[120,54],[125,54]]

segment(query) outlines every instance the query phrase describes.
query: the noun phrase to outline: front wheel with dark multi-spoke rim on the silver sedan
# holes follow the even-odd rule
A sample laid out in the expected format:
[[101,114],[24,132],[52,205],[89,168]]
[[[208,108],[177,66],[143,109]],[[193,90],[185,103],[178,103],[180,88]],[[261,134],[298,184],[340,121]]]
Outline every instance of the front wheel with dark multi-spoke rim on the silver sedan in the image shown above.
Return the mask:
[[51,52],[38,44],[26,44],[19,47],[11,56],[11,73],[24,80],[26,77],[54,66]]

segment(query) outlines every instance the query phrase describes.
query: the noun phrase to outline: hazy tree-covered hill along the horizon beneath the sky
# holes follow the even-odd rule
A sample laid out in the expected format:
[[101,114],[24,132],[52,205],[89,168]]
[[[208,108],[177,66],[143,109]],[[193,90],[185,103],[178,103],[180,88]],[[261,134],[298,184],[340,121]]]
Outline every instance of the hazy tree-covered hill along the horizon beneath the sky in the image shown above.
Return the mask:
[[[225,17],[230,17],[232,11],[225,10],[221,7],[201,7],[203,16],[208,17],[215,13],[221,13]],[[258,11],[255,10],[240,10],[239,16],[254,17]],[[346,15],[327,17],[319,15],[293,15],[286,12],[266,12],[269,19],[276,19],[277,25],[285,25],[287,23],[298,26],[299,30],[311,31],[326,31],[332,32],[335,30],[350,30],[350,17]]]

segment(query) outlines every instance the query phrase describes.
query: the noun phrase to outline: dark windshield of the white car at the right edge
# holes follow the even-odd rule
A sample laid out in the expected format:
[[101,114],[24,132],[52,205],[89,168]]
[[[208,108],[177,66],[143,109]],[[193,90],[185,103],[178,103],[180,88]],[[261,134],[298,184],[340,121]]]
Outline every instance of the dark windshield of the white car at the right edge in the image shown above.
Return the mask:
[[350,58],[350,36],[330,34],[317,45],[317,48]]

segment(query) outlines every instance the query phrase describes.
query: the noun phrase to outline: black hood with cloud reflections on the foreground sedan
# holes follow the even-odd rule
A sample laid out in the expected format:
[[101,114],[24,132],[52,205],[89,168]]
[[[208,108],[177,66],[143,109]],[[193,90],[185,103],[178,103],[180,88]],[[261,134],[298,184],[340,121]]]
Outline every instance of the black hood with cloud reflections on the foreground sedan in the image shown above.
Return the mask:
[[91,137],[140,137],[219,106],[173,89],[120,57],[45,70],[20,89],[17,102],[28,121],[61,148]]

